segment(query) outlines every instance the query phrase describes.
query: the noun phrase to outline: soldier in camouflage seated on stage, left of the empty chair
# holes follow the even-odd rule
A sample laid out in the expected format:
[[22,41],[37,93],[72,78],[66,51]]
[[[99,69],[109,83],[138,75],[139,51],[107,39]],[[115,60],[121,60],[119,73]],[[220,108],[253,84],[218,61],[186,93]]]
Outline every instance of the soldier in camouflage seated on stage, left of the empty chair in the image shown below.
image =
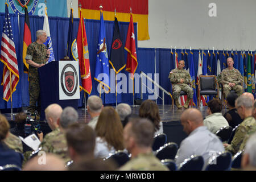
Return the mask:
[[185,61],[180,60],[178,67],[176,69],[172,69],[172,71],[169,73],[170,81],[172,83],[172,90],[174,94],[174,100],[175,104],[178,109],[180,109],[182,106],[179,103],[179,96],[180,91],[184,91],[188,94],[187,101],[184,104],[184,108],[188,108],[189,101],[193,98],[193,89],[188,86],[190,83],[191,77],[189,75],[188,71],[185,71],[183,69],[185,67]]

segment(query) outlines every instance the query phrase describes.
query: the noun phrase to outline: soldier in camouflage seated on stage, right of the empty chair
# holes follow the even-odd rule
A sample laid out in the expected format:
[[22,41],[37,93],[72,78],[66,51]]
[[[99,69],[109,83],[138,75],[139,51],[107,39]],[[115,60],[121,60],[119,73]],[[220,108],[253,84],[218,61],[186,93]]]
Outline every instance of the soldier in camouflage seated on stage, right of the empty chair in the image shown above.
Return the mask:
[[232,57],[226,59],[226,64],[228,64],[228,68],[222,70],[218,82],[223,85],[225,98],[228,96],[230,90],[235,90],[239,97],[243,93],[243,77],[241,73],[233,67],[234,60]]

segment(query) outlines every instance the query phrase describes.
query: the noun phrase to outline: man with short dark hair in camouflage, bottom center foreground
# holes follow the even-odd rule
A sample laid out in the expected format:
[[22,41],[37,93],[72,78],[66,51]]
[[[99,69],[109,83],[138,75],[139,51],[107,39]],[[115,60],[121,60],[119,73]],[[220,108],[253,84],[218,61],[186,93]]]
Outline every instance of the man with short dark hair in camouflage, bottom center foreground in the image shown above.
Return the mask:
[[168,168],[152,152],[154,128],[152,122],[145,118],[133,118],[127,123],[123,138],[131,159],[119,170],[168,171]]

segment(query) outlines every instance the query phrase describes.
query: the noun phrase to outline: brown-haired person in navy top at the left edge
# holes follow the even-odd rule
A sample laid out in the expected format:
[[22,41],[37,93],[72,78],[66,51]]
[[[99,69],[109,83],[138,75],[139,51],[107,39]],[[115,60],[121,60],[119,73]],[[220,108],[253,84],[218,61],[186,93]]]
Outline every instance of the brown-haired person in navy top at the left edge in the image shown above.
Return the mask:
[[9,133],[10,125],[4,115],[0,114],[0,166],[15,164],[22,168],[23,155],[10,149],[3,140]]

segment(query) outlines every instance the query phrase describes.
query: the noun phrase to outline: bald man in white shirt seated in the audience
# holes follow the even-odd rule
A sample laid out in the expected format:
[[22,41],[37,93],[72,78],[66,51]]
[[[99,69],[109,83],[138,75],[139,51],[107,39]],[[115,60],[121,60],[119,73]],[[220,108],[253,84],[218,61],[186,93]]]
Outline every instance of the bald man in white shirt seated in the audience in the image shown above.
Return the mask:
[[175,156],[177,166],[191,155],[201,155],[204,158],[204,168],[213,151],[223,152],[224,147],[216,135],[210,133],[203,123],[203,116],[197,109],[187,109],[181,114],[183,131],[188,134],[181,144]]

